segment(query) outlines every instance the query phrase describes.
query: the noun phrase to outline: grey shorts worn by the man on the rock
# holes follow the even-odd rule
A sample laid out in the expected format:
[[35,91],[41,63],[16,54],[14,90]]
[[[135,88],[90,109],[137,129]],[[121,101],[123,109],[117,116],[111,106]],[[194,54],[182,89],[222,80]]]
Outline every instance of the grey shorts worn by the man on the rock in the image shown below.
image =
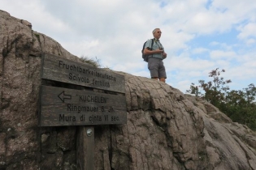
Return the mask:
[[150,70],[151,78],[167,79],[165,67],[163,66],[163,61],[161,59],[149,57],[148,68]]

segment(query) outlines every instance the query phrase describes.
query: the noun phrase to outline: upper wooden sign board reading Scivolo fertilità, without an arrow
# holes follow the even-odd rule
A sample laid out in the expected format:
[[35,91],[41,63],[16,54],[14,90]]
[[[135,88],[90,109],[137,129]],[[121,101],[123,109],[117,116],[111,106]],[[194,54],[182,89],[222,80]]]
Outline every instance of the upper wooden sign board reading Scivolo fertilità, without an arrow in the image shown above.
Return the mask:
[[41,79],[125,93],[124,75],[48,53],[42,56]]

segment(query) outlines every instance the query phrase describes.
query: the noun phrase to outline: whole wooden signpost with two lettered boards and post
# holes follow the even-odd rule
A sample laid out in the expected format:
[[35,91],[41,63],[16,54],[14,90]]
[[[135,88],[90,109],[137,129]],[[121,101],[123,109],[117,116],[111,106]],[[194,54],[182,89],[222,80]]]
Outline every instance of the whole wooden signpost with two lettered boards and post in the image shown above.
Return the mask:
[[[41,79],[63,83],[66,87],[41,85],[39,125],[80,125],[76,144],[77,169],[93,170],[93,125],[127,122],[124,75],[45,53]],[[89,89],[80,90],[80,87]]]

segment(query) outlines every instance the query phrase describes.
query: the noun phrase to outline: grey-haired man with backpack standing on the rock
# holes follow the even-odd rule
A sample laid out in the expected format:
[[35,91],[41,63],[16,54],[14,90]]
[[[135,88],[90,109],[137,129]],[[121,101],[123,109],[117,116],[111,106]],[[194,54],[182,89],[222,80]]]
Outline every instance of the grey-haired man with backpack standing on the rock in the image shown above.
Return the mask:
[[[165,82],[167,74],[163,66],[163,59],[167,57],[167,53],[164,52],[163,45],[159,41],[161,35],[162,32],[160,28],[155,28],[153,30],[154,40],[147,40],[143,53],[149,55],[148,68],[150,70],[151,79],[159,79]],[[152,42],[153,45],[151,45]]]

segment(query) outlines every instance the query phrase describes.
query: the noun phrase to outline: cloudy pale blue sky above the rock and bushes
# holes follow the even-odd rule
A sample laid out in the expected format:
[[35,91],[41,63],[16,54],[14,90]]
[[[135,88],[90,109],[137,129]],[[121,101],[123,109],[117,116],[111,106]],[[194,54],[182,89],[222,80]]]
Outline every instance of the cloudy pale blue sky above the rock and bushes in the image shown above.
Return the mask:
[[32,23],[77,57],[150,77],[145,40],[161,28],[167,83],[185,92],[210,70],[226,70],[232,90],[256,85],[255,0],[0,0],[0,10]]

